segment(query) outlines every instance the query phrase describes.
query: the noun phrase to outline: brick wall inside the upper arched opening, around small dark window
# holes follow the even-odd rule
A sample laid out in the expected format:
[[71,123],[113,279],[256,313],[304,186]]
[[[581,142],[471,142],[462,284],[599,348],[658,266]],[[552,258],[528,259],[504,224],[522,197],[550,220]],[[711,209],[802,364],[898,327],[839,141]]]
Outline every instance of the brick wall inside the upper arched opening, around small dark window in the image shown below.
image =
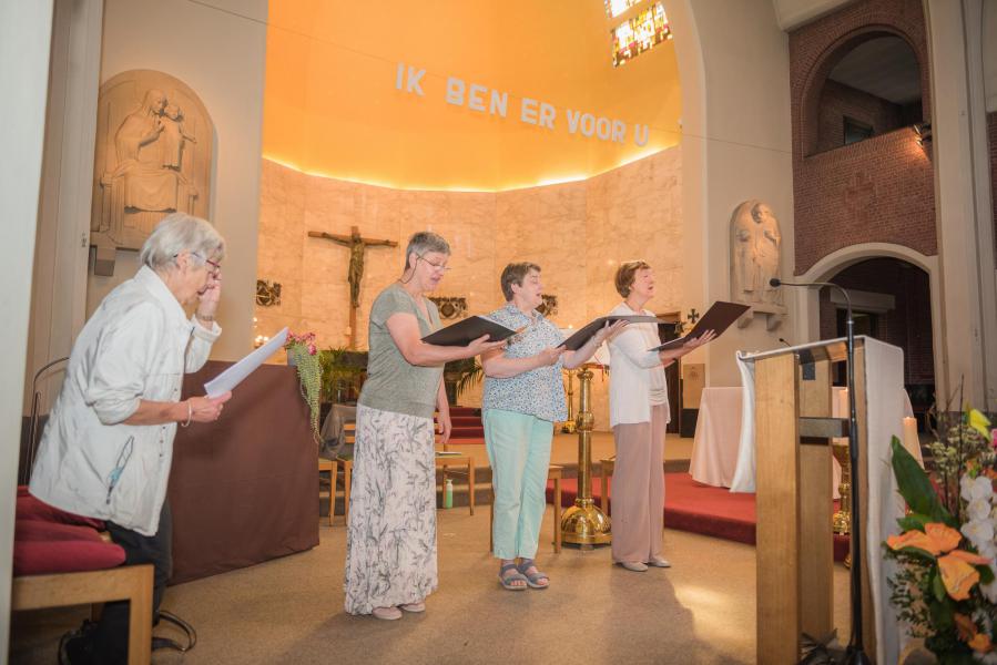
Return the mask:
[[904,110],[899,104],[828,79],[821,91],[816,152],[844,145],[846,116],[869,125],[873,134],[879,135],[901,126]]

